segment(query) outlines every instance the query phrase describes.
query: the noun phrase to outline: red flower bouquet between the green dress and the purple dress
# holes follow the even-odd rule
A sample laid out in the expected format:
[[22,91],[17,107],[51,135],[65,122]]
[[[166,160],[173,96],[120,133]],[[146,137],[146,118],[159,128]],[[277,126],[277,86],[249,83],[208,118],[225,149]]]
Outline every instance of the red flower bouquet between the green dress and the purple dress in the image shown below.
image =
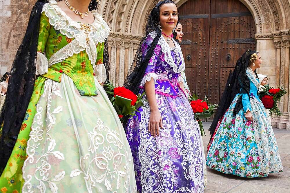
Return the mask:
[[135,111],[144,105],[142,97],[145,92],[137,96],[125,87],[115,88],[111,82],[105,83],[104,88],[121,121],[123,116],[135,116]]

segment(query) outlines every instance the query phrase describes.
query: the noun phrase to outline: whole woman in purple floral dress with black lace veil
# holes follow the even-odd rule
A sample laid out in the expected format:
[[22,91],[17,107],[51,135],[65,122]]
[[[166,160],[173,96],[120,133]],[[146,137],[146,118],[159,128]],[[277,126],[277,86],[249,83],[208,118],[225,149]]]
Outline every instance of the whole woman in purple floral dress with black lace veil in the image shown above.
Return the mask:
[[139,192],[203,192],[206,184],[201,133],[184,93],[184,59],[172,34],[178,21],[173,1],[157,3],[124,84],[136,94],[146,91],[144,107],[126,126]]

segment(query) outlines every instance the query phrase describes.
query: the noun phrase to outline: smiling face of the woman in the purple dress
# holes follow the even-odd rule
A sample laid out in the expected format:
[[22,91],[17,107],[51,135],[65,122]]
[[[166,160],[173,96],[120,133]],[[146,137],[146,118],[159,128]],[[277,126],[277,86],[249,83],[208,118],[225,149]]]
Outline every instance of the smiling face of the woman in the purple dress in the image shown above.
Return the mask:
[[178,21],[176,5],[174,3],[162,4],[159,8],[159,13],[162,31],[172,31]]

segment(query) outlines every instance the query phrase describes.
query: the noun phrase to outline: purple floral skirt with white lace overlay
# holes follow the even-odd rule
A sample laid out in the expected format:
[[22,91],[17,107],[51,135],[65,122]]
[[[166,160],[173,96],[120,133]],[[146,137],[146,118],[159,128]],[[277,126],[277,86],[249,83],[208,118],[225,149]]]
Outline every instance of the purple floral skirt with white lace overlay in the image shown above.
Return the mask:
[[[181,91],[179,93],[182,93]],[[203,192],[206,185],[204,148],[189,101],[156,93],[163,129],[154,138],[148,131],[150,107],[129,119],[126,136],[134,159],[139,192]]]

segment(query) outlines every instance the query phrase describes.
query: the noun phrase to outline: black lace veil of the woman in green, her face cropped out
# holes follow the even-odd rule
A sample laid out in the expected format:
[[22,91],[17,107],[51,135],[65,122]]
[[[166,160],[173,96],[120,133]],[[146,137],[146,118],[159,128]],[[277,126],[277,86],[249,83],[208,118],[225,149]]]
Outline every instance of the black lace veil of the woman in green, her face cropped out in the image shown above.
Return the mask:
[[[44,4],[48,2],[48,0],[38,0],[33,6],[26,33],[12,64],[6,99],[0,113],[0,175],[17,140],[34,89],[40,16]],[[97,0],[92,0],[89,10],[96,8]],[[104,47],[104,64],[108,77],[107,41]]]

